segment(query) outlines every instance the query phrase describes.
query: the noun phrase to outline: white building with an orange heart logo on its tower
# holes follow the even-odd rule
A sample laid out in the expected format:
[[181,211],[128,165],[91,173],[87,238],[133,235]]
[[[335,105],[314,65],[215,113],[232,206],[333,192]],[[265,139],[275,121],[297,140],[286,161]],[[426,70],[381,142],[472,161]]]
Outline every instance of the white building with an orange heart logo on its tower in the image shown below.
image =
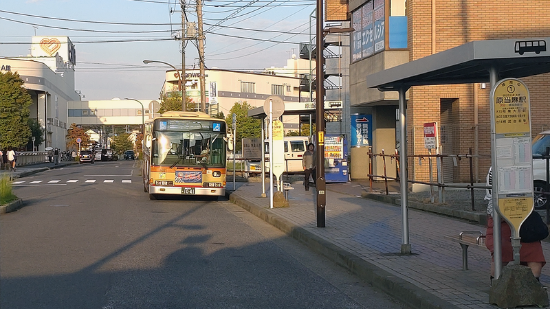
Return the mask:
[[30,117],[45,129],[39,151],[67,147],[67,102],[80,100],[75,65],[76,49],[67,36],[33,36],[30,55],[0,58],[0,71],[19,73],[31,95]]

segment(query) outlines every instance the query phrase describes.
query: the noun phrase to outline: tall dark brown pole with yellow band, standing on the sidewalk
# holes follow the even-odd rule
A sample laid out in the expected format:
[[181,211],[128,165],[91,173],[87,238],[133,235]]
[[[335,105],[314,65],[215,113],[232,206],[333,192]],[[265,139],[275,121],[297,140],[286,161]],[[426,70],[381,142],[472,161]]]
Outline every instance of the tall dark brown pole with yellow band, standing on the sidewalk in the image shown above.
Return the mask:
[[[316,203],[317,203],[317,227],[325,227],[325,208],[327,206],[326,181],[325,181],[325,35],[323,34],[323,1],[317,0],[317,27],[316,27]],[[311,130],[311,128],[309,128]]]

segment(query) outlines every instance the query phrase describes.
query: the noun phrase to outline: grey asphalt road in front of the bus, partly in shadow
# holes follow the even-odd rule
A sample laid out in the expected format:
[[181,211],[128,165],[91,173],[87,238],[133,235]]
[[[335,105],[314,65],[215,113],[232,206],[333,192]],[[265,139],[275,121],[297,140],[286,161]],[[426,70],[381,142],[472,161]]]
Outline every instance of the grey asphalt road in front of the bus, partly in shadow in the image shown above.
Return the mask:
[[135,163],[17,179],[1,308],[406,308],[225,199],[149,201]]

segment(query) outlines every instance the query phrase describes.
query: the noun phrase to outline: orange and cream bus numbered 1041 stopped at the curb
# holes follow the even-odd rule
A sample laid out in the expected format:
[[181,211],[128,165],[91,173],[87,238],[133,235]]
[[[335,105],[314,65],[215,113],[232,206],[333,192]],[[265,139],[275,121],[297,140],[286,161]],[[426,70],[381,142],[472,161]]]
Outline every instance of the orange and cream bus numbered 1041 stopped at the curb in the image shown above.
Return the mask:
[[[159,194],[224,196],[228,128],[200,112],[168,111],[144,125],[143,186]],[[230,139],[229,139],[230,141]]]

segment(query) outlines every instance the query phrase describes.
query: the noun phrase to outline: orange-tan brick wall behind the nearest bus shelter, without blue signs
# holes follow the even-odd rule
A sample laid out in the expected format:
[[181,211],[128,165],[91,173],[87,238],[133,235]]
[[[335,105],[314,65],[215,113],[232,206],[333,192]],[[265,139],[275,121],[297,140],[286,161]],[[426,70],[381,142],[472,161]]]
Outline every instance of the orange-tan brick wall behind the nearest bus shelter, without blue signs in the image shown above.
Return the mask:
[[[434,0],[435,50],[441,52],[470,41],[531,38],[550,36],[550,1],[458,1]],[[432,54],[432,0],[408,0],[408,47],[410,60]],[[549,42],[550,43],[550,42]],[[548,43],[547,43],[548,44]],[[550,74],[523,78],[531,95],[531,131],[550,130]],[[412,87],[408,101],[408,154],[427,154],[423,133],[418,132],[424,122],[441,125],[441,100],[458,102],[453,108],[453,132],[459,135],[453,152],[465,155],[468,148],[475,151],[475,131],[478,131],[478,159],[476,172],[481,182],[490,165],[489,85],[476,89],[478,84]],[[474,92],[478,100],[478,127],[474,126]],[[457,114],[457,115],[456,115]],[[413,134],[414,133],[414,137]],[[412,141],[412,142],[411,142]],[[427,162],[427,161],[426,161]],[[409,160],[410,179],[426,181],[428,164]],[[455,168],[454,181],[470,179],[469,163],[463,159]]]

